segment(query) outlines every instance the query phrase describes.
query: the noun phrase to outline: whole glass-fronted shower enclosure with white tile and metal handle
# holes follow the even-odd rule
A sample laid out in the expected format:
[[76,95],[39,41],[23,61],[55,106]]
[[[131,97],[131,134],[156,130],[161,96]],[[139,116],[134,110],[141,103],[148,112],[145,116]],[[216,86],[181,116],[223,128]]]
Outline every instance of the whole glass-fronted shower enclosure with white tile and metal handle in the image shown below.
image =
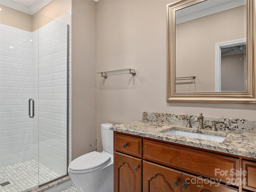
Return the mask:
[[0,24],[0,192],[67,175],[68,25],[37,15],[33,26]]

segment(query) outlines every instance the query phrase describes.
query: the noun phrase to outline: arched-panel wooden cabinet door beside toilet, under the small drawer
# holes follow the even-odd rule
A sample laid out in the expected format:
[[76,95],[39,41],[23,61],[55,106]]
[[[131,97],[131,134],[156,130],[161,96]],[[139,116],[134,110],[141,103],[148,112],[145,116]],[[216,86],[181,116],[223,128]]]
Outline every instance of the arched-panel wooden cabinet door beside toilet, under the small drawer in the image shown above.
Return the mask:
[[141,159],[114,152],[114,192],[141,192],[141,178]]

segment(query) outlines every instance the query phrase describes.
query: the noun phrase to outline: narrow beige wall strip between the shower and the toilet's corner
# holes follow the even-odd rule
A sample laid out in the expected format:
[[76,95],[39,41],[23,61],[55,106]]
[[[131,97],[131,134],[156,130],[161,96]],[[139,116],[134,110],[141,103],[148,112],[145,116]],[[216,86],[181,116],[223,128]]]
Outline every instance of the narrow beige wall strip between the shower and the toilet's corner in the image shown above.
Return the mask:
[[72,0],[72,160],[96,139],[96,2]]

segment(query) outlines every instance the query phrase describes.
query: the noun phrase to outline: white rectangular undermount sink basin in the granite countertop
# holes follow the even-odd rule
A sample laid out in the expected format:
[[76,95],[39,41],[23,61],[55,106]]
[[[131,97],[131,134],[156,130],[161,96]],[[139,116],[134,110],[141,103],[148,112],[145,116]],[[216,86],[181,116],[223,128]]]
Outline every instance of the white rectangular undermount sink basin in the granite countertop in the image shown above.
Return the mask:
[[184,136],[184,137],[190,137],[190,138],[195,138],[195,139],[216,141],[216,142],[222,142],[226,138],[226,137],[222,137],[222,136],[207,135],[207,134],[201,134],[201,133],[192,133],[192,132],[180,131],[180,130],[171,130],[171,131],[168,131],[165,133]]

